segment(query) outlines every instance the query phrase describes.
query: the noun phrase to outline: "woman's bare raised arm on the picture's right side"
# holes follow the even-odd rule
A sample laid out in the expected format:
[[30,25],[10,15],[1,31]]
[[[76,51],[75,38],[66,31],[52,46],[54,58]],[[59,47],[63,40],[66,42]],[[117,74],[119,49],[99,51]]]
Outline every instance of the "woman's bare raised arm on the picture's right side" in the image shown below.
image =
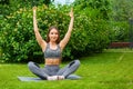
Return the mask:
[[66,46],[66,43],[68,43],[68,41],[70,40],[70,37],[71,37],[71,32],[72,32],[72,28],[73,28],[73,21],[74,21],[73,9],[71,9],[71,11],[70,11],[70,18],[71,18],[71,20],[70,20],[68,32],[65,33],[64,38],[60,42],[60,47],[61,47],[62,50]]

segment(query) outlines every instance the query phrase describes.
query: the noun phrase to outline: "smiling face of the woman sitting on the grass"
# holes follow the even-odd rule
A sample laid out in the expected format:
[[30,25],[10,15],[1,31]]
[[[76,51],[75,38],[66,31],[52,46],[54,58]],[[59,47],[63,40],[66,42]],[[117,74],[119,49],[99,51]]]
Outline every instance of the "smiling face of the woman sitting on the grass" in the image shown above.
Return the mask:
[[55,42],[59,38],[59,32],[57,29],[51,29],[49,33],[50,41]]

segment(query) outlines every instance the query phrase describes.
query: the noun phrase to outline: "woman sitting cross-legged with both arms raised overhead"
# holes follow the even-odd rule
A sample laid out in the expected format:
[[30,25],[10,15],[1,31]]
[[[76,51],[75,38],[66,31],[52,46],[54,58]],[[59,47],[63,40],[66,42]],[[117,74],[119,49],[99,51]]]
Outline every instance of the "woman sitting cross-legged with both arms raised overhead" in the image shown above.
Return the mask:
[[31,72],[33,72],[41,79],[47,79],[47,80],[65,79],[68,76],[73,73],[80,66],[79,60],[73,60],[68,66],[60,69],[61,53],[70,39],[71,31],[73,28],[73,21],[74,21],[73,10],[71,9],[71,11],[70,11],[71,20],[70,20],[70,24],[69,24],[69,30],[68,30],[65,37],[61,41],[60,41],[59,30],[55,27],[49,28],[47,41],[44,41],[42,39],[42,37],[39,32],[39,29],[38,29],[35,12],[37,12],[37,7],[33,7],[34,33],[35,33],[37,41],[44,53],[45,66],[44,66],[44,68],[41,69],[39,67],[39,65],[30,61],[28,63],[29,69]]

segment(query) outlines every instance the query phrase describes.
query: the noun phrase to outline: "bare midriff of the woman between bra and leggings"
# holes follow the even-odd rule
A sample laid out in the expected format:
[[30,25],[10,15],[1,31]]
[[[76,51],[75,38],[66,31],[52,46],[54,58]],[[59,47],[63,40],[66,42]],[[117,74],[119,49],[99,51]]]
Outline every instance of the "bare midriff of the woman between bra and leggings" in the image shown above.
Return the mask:
[[59,58],[47,58],[45,59],[45,65],[52,66],[52,65],[60,65],[61,59]]

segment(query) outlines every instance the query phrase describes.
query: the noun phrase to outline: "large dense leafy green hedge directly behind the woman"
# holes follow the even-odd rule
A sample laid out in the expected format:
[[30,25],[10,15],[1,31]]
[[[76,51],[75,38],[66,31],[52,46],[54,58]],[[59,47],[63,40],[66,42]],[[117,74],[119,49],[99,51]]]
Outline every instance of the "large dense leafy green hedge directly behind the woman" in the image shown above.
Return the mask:
[[[70,7],[59,6],[55,8],[49,6],[48,8],[44,4],[38,6],[37,19],[43,39],[45,39],[50,26],[57,26],[60,29],[61,39],[63,39],[70,22],[68,16]],[[7,12],[9,13],[6,13],[6,16],[3,13],[1,16],[2,20],[0,20],[2,60],[39,61],[38,59],[41,59],[42,61],[43,55],[33,33],[32,9],[30,7],[19,7],[14,10],[14,7],[10,7]],[[110,42],[109,16],[104,18],[99,8],[86,8],[82,11],[79,6],[74,7],[74,14],[72,37],[63,51],[63,58],[74,59],[90,52],[101,52],[106,48]]]

